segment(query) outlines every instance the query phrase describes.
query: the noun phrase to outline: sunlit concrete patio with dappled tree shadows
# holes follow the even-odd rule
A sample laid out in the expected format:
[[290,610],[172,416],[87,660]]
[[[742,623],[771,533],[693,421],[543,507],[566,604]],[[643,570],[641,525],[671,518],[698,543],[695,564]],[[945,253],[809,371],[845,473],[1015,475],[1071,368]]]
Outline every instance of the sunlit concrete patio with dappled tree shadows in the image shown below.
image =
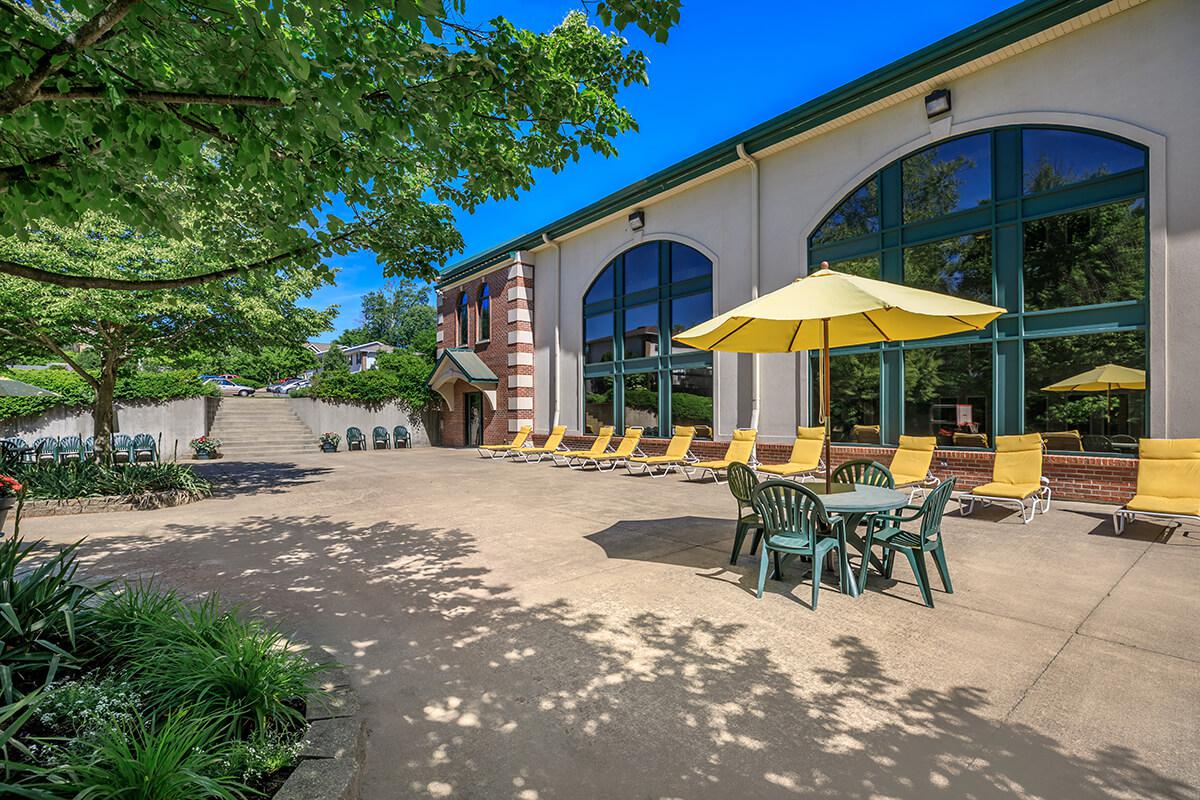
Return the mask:
[[324,644],[372,800],[1200,796],[1200,534],[955,517],[935,609],[898,565],[814,613],[728,566],[725,487],[448,450],[206,469],[218,498],[25,534]]

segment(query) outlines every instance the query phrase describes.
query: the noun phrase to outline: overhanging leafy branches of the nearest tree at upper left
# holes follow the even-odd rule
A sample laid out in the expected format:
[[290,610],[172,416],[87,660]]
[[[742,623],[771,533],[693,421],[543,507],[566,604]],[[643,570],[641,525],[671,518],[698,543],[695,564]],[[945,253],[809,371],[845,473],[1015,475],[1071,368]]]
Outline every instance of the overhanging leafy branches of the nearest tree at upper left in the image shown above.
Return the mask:
[[[593,7],[665,41],[679,4]],[[370,248],[389,276],[432,277],[462,246],[451,204],[515,197],[534,169],[584,149],[612,155],[636,128],[617,94],[647,80],[646,56],[582,12],[544,34],[464,12],[464,0],[0,4],[0,235],[86,209],[179,235],[190,212],[240,197],[227,218],[270,245],[166,276],[13,253],[0,272],[162,289]],[[184,191],[163,197],[163,180]],[[349,218],[318,219],[331,201]]]

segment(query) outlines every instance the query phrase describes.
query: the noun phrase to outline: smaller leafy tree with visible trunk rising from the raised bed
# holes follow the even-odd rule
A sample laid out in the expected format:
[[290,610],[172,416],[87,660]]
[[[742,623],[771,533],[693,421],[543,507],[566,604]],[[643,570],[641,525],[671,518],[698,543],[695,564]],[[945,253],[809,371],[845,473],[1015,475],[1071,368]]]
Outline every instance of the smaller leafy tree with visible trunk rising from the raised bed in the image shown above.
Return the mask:
[[[119,219],[90,212],[78,227],[43,223],[25,239],[0,239],[0,258],[16,258],[65,275],[119,278],[169,277],[210,270],[229,245],[202,219],[185,221],[184,237],[143,234]],[[242,242],[241,252],[253,252]],[[0,336],[50,353],[96,392],[92,422],[103,453],[114,429],[113,390],[125,365],[172,350],[287,345],[329,330],[336,308],[300,308],[296,300],[324,278],[286,265],[169,293],[65,289],[0,275]],[[70,351],[94,348],[100,368]]]

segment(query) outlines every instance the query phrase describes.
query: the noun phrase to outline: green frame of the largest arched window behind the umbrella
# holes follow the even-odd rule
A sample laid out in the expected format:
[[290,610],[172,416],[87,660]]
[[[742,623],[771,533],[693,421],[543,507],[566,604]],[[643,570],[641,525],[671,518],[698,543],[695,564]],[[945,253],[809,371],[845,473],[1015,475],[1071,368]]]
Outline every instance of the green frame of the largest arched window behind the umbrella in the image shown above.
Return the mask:
[[[1082,179],[1072,179],[1058,186],[1031,191],[1026,181],[1022,155],[1025,131],[1074,132],[1109,139],[1140,151],[1141,166],[1111,174],[1098,173]],[[947,142],[979,136],[986,136],[990,143],[990,199],[973,207],[905,223],[904,162]],[[842,198],[808,237],[810,271],[816,270],[822,261],[828,261],[835,270],[840,269],[839,263],[845,263],[841,269],[868,275],[872,271],[874,261],[878,264],[878,275],[872,277],[904,283],[904,254],[907,248],[956,236],[988,236],[991,248],[991,301],[1008,309],[985,331],[978,333],[916,342],[886,342],[840,348],[832,353],[833,357],[868,353],[878,356],[882,444],[894,446],[904,433],[904,354],[907,350],[973,343],[990,345],[992,397],[988,429],[991,437],[1026,432],[1025,343],[1030,341],[1078,333],[1140,332],[1146,343],[1145,368],[1148,389],[1151,380],[1148,181],[1148,152],[1138,143],[1088,128],[1004,126],[972,131],[908,154],[883,167]],[[854,203],[851,203],[852,200]],[[1122,201],[1140,203],[1142,209],[1145,253],[1141,297],[1062,308],[1026,309],[1024,296],[1026,223]],[[850,209],[850,212],[846,209]],[[847,218],[856,224],[847,225]],[[834,225],[834,230],[841,225],[846,233],[841,237],[830,236],[822,230],[827,222]],[[810,355],[812,367],[810,374],[817,374],[818,356]],[[810,423],[815,425],[817,398],[816,386],[811,384],[812,381],[810,381],[810,409],[812,409]],[[1144,403],[1142,431],[1144,435],[1148,435],[1151,425],[1148,391],[1145,392]],[[994,443],[994,438],[990,443]]]

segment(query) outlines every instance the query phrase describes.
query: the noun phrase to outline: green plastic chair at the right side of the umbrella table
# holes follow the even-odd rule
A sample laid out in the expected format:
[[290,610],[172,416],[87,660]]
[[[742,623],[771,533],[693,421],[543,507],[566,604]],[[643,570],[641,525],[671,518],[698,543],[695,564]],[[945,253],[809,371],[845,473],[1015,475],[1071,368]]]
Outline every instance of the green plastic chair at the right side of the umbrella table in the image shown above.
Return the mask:
[[[925,501],[919,506],[907,505],[905,509],[916,510],[913,515],[880,513],[866,529],[866,543],[863,547],[863,565],[859,567],[858,585],[866,585],[866,567],[871,561],[871,547],[878,545],[883,548],[883,577],[892,577],[892,566],[898,552],[904,553],[908,559],[908,566],[917,577],[917,588],[920,589],[922,600],[930,608],[934,607],[934,593],[929,587],[929,571],[925,569],[925,553],[934,554],[934,563],[937,565],[937,575],[942,578],[942,587],[946,594],[954,594],[954,585],[950,583],[950,571],[946,565],[946,551],[942,548],[942,517],[946,513],[946,504],[954,492],[955,479],[950,477],[937,485],[925,495]],[[920,530],[912,533],[900,528],[901,523],[920,521]]]

